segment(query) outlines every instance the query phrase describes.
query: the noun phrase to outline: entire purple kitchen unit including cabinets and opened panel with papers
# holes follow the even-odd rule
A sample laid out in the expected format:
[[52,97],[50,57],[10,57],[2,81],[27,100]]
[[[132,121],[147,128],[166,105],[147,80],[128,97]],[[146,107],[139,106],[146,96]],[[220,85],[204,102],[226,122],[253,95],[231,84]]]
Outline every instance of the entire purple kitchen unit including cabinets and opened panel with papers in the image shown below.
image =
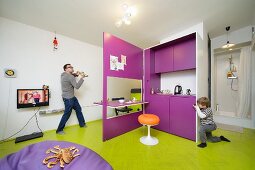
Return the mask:
[[141,103],[148,103],[144,105],[144,113],[160,118],[159,125],[153,128],[196,140],[197,116],[192,107],[196,96],[163,95],[157,91],[162,73],[196,70],[196,36],[192,33],[143,51],[111,34],[103,34],[103,141],[140,127],[137,119],[143,112],[107,118],[108,77],[142,80]]

